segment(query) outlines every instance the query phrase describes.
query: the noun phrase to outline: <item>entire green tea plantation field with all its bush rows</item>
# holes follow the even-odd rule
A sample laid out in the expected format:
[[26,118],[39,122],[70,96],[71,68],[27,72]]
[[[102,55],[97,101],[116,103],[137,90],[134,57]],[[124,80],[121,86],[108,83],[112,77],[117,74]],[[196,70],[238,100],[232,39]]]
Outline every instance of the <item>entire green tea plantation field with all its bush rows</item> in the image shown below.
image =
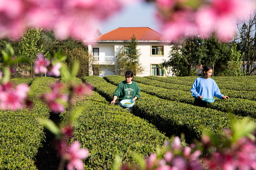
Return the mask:
[[[222,129],[231,126],[229,117],[239,121],[249,116],[255,120],[256,76],[212,77],[221,93],[230,99],[216,99],[206,108],[193,106],[190,89],[196,78],[134,77],[141,88],[141,98],[136,100],[133,114],[117,104],[110,104],[124,77],[74,78],[73,84],[84,81],[94,87],[90,95],[77,98],[72,108],[84,108],[74,122],[74,138],[69,143],[78,140],[81,147],[89,150],[89,158],[83,160],[85,169],[112,169],[115,153],[121,156],[122,162],[132,161],[134,152],[148,156],[172,135],[184,133],[188,143],[199,139],[204,129],[221,136]],[[51,114],[37,96],[46,93],[56,79],[38,77],[10,81],[14,85],[30,86],[29,96],[34,108],[0,110],[0,169],[37,169],[34,156],[47,139],[44,127],[36,119],[48,118]],[[60,82],[67,83],[65,79]],[[67,113],[61,113],[60,117],[66,121]]]

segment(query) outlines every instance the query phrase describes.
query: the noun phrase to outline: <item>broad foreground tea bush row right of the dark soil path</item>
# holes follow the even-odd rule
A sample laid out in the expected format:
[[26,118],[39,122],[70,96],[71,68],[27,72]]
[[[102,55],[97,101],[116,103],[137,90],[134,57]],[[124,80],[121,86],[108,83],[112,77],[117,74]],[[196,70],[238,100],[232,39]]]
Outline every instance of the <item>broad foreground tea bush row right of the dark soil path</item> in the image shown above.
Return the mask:
[[[115,153],[125,163],[132,159],[132,152],[149,156],[168,140],[154,125],[110,104],[97,92],[77,101],[72,109],[80,107],[84,111],[74,123],[74,136],[90,152],[85,169],[112,169]],[[66,114],[61,115],[65,120]]]

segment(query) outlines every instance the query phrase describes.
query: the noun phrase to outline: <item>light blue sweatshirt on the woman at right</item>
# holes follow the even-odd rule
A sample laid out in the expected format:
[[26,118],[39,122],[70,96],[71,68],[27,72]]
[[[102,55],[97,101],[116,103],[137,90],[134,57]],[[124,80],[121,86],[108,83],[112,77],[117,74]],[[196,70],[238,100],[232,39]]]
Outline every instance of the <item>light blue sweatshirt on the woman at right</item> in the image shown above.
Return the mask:
[[220,89],[213,79],[204,79],[202,77],[198,77],[193,83],[191,94],[197,99],[198,96],[202,96],[204,98],[213,98],[215,96],[220,99],[224,96],[220,93]]

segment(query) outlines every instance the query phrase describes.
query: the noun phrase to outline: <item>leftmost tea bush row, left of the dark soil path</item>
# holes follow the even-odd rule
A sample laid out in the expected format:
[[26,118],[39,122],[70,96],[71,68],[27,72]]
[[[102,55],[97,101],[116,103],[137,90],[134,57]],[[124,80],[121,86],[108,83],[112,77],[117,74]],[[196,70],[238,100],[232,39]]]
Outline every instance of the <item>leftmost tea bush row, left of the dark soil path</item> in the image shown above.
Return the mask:
[[[30,86],[30,93],[40,95],[47,90],[47,84],[54,81],[51,77],[36,78]],[[18,84],[20,81],[12,82]],[[33,98],[33,104],[32,110],[0,110],[0,169],[37,169],[34,155],[42,146],[45,135],[44,126],[36,119],[48,118],[50,110],[36,98]]]

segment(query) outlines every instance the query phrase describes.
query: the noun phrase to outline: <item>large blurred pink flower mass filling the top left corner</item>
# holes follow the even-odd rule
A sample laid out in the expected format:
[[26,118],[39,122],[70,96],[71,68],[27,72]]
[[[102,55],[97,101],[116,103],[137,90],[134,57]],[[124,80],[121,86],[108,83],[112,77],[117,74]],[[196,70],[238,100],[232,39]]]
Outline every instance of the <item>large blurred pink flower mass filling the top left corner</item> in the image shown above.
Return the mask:
[[0,38],[18,36],[25,29],[52,28],[58,37],[85,40],[100,20],[112,16],[124,0],[0,0]]

